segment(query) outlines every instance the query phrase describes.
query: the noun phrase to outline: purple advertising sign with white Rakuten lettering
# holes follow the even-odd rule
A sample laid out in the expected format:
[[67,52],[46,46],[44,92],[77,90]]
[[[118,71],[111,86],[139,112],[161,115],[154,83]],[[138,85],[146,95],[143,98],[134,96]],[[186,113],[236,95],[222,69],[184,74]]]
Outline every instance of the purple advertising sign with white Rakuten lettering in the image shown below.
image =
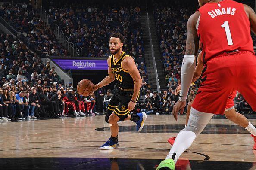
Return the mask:
[[106,60],[59,60],[53,59],[62,69],[69,70],[108,70]]

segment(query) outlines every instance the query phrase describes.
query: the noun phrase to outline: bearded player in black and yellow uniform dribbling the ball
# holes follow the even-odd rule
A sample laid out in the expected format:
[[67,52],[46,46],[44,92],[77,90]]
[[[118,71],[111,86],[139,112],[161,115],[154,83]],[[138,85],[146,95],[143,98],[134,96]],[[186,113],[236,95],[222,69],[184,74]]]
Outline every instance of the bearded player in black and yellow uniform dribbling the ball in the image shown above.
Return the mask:
[[116,79],[118,88],[111,98],[108,111],[105,117],[109,123],[111,137],[100,147],[100,149],[115,149],[118,143],[118,121],[130,120],[137,124],[137,131],[141,131],[147,118],[145,112],[129,114],[135,109],[135,104],[140,97],[140,87],[142,79],[135,65],[134,59],[122,50],[124,37],[120,33],[113,33],[109,39],[109,48],[111,56],[108,58],[108,73],[100,83],[94,85],[94,91],[101,88]]

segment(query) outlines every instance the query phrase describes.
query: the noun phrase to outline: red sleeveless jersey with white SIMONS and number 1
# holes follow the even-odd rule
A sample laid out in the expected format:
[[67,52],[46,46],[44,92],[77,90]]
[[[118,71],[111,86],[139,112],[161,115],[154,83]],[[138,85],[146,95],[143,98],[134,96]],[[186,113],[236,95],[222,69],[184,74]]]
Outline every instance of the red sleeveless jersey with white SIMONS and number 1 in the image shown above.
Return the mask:
[[254,53],[250,21],[242,3],[233,0],[206,3],[198,11],[197,34],[204,64],[224,52],[239,50]]

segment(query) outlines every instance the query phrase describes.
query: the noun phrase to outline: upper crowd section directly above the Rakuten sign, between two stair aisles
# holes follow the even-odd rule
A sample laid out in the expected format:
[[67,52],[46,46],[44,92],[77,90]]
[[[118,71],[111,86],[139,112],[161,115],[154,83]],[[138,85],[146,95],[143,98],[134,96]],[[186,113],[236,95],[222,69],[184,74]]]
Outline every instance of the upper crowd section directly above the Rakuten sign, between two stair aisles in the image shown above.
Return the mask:
[[82,56],[108,57],[109,36],[119,32],[125,37],[123,50],[137,63],[144,62],[141,14],[138,5],[129,3],[84,3],[82,1],[50,1],[51,25],[60,29],[81,49]]

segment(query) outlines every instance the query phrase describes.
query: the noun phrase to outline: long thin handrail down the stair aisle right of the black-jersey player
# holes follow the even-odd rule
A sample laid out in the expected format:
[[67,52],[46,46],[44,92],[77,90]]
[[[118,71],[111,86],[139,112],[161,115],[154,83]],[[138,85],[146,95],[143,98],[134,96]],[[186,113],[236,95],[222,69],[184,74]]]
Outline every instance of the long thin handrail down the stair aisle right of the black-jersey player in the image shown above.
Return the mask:
[[149,38],[150,38],[150,47],[151,47],[151,53],[152,53],[152,60],[153,60],[153,66],[155,70],[155,75],[156,75],[156,88],[157,91],[160,92],[160,84],[159,84],[159,79],[158,79],[158,72],[156,68],[156,59],[154,55],[154,49],[153,49],[153,43],[152,43],[152,37],[151,37],[151,31],[150,31],[150,20],[148,17],[148,11],[147,11],[147,4],[146,4],[146,12],[147,12],[147,27],[148,27],[148,32],[149,32]]

